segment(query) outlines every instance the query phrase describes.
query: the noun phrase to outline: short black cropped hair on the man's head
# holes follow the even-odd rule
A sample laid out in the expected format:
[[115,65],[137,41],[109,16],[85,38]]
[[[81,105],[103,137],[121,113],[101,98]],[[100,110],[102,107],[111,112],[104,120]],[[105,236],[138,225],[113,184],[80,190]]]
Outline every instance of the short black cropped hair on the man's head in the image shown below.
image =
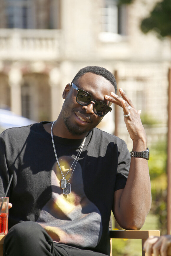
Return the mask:
[[78,73],[75,75],[71,84],[75,80],[79,79],[84,74],[89,73],[89,72],[106,78],[109,82],[111,82],[111,84],[113,84],[113,86],[115,88],[115,93],[117,92],[116,79],[115,79],[114,75],[110,71],[108,71],[107,69],[105,69],[103,67],[98,67],[98,66],[88,66],[88,67],[80,69],[78,71]]

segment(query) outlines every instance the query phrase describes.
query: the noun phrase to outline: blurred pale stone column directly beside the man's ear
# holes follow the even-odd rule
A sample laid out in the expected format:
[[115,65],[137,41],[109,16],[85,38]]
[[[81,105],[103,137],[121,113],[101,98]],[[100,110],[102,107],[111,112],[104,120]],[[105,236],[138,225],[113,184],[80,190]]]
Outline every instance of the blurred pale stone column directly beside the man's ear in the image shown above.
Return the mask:
[[49,73],[49,83],[51,87],[51,120],[54,121],[59,116],[61,110],[61,90],[60,90],[60,72],[57,67]]

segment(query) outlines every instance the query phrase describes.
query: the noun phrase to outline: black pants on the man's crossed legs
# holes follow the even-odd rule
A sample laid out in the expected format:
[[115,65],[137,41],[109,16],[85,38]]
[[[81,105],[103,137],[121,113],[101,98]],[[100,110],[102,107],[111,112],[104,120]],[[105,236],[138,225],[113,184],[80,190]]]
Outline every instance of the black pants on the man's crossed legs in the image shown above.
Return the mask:
[[105,254],[82,250],[53,242],[39,224],[21,222],[8,231],[4,240],[4,256],[105,256]]

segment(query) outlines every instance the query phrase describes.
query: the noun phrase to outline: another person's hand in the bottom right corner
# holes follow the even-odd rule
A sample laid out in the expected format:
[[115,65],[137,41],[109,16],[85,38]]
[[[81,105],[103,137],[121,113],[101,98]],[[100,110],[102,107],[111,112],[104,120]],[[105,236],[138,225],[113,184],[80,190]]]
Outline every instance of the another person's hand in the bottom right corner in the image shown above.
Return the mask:
[[163,235],[161,237],[149,237],[144,242],[144,250],[147,256],[154,253],[155,256],[167,256],[167,249],[171,245],[171,235]]

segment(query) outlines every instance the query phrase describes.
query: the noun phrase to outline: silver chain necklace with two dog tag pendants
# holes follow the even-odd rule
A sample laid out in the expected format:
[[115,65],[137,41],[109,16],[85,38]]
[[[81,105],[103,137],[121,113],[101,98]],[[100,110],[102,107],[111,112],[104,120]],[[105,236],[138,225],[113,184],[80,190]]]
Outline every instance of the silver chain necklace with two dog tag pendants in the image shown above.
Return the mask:
[[71,176],[73,175],[73,172],[74,172],[74,170],[75,170],[75,166],[76,166],[76,164],[77,164],[77,162],[78,162],[78,159],[79,159],[79,157],[80,157],[81,151],[82,151],[82,149],[83,149],[83,146],[84,146],[84,142],[85,142],[86,137],[84,138],[83,143],[82,143],[82,145],[81,145],[81,147],[80,147],[80,150],[79,150],[77,156],[75,157],[75,159],[74,159],[74,161],[73,161],[73,163],[72,163],[72,165],[71,165],[71,167],[72,167],[73,164],[74,164],[74,162],[75,162],[75,160],[76,160],[76,163],[75,163],[74,169],[73,169],[73,171],[72,171],[72,173],[71,173],[71,175],[70,175],[70,178],[69,178],[68,180],[66,180],[65,177],[67,176],[67,174],[68,174],[68,172],[70,171],[71,167],[70,167],[70,169],[68,170],[67,174],[64,176],[64,174],[63,174],[63,172],[62,172],[62,170],[61,170],[61,167],[60,167],[59,160],[58,160],[58,158],[57,158],[56,149],[55,149],[55,143],[54,143],[54,140],[53,140],[53,132],[52,132],[52,129],[53,129],[53,124],[54,124],[54,123],[55,123],[55,121],[52,123],[52,127],[51,127],[51,137],[52,137],[52,144],[53,144],[53,149],[54,149],[54,152],[55,152],[56,161],[57,161],[57,164],[58,164],[58,166],[59,166],[60,172],[61,172],[62,177],[63,177],[63,179],[61,179],[61,181],[60,181],[60,187],[63,189],[63,194],[64,194],[64,195],[68,195],[68,194],[70,194],[70,192],[71,192],[71,184],[68,183],[68,181],[70,180]]

